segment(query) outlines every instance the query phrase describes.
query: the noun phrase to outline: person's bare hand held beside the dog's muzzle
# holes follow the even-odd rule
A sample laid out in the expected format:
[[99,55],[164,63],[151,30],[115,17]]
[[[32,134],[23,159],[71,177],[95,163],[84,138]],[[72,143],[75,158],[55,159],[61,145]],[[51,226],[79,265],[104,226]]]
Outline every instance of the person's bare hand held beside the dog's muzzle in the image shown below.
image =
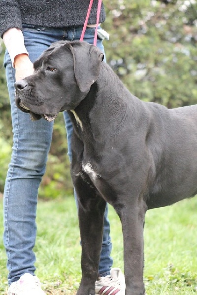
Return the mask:
[[16,71],[16,81],[24,79],[25,77],[32,75],[34,72],[33,63],[27,54],[17,55],[14,59],[14,67]]

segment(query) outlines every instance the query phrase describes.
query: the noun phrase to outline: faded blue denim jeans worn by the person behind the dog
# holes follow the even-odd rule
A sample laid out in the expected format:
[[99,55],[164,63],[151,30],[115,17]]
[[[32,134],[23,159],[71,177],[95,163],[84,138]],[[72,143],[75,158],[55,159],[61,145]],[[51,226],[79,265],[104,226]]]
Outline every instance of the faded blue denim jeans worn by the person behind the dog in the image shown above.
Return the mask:
[[[40,28],[24,25],[25,46],[30,59],[34,61],[52,42],[59,40],[78,40],[81,27],[68,29]],[[92,43],[95,29],[86,29],[84,40]],[[102,41],[98,47],[103,51]],[[34,274],[35,255],[33,246],[36,237],[37,192],[45,173],[53,122],[41,118],[31,121],[29,114],[23,113],[15,105],[15,70],[8,53],[5,53],[4,66],[11,103],[13,125],[13,149],[4,189],[4,235],[9,270],[8,283],[18,280],[25,272]],[[72,124],[64,112],[67,129],[68,155],[71,158]],[[99,273],[109,274],[112,266],[110,228],[107,208],[104,217],[103,243],[100,255]]]

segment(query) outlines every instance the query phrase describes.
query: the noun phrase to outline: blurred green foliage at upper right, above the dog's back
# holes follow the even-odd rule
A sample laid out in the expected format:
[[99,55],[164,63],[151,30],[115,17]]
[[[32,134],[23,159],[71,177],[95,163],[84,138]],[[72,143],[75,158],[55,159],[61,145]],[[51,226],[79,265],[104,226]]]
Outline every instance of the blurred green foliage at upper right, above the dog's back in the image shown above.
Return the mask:
[[106,1],[104,45],[134,95],[171,108],[197,103],[197,3],[169,2]]

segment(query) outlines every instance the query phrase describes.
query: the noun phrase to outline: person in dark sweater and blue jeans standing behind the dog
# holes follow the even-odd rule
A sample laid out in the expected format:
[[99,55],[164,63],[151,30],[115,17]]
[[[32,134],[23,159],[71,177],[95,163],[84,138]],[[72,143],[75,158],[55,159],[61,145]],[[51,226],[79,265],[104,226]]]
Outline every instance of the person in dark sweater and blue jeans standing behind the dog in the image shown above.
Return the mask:
[[[84,41],[93,44],[98,1],[93,2]],[[4,67],[11,104],[13,148],[4,188],[4,235],[7,254],[8,295],[44,295],[35,276],[36,206],[38,187],[45,173],[53,122],[32,122],[28,114],[15,105],[14,83],[33,74],[33,62],[53,42],[79,40],[89,0],[1,0],[0,36],[6,46]],[[103,3],[100,19],[105,20]],[[105,31],[99,27],[97,46],[104,53]],[[64,112],[68,156],[71,160],[72,124]],[[30,136],[31,134],[31,136]],[[76,196],[75,196],[76,197]],[[112,243],[107,207],[104,216],[96,294],[125,294],[124,275],[112,267]],[[102,289],[102,293],[101,292]],[[107,293],[108,291],[108,293]],[[115,293],[114,293],[115,294]]]

